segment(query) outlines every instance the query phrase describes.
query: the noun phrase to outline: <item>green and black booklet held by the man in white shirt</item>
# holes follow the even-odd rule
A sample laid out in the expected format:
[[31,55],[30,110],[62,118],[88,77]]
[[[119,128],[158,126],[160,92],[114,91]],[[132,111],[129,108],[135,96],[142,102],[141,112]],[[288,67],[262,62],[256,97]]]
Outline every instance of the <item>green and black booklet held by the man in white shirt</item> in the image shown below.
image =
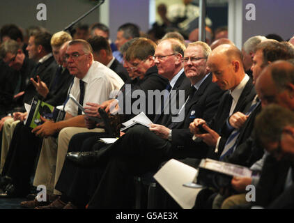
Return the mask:
[[49,105],[48,103],[42,102],[36,98],[33,98],[31,107],[27,105],[25,107],[28,109],[28,116],[24,125],[29,126],[30,128],[36,128],[38,125],[42,125],[42,123],[44,123],[40,119],[40,116],[54,122],[62,121],[65,116],[62,106],[54,107],[53,105]]

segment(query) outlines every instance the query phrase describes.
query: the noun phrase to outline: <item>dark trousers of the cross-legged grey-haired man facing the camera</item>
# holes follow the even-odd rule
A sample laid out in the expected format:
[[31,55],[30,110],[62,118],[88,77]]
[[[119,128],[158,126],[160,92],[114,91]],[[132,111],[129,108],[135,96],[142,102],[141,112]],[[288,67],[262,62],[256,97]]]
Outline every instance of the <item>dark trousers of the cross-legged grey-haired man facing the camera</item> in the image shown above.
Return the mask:
[[88,208],[132,208],[134,176],[156,171],[171,144],[143,125],[134,125],[109,147],[109,161]]

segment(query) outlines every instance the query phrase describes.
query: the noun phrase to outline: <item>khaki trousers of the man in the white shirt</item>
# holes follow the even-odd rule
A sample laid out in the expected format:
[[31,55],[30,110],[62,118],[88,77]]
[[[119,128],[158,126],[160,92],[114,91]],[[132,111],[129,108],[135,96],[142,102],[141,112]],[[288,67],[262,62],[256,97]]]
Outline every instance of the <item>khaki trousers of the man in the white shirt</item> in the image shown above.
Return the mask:
[[82,132],[105,132],[105,130],[100,128],[88,130],[87,128],[68,127],[59,132],[58,139],[54,137],[43,139],[33,180],[34,186],[45,185],[49,195],[61,194],[58,190],[54,190],[54,186],[59,179],[65,155],[68,152],[68,144],[74,134]]

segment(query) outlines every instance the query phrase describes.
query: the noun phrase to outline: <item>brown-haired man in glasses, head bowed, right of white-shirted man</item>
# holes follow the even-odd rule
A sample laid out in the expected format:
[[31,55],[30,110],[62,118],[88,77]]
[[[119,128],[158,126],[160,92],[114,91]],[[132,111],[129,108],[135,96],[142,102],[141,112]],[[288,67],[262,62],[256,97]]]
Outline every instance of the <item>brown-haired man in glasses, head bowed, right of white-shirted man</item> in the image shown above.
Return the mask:
[[[114,102],[116,100],[118,100],[120,106],[124,108],[123,111],[125,111],[126,107],[130,107],[130,105],[127,104],[127,100],[125,100],[125,98],[130,98],[132,107],[132,102],[135,101],[135,98],[131,98],[131,95],[134,91],[143,91],[147,95],[148,91],[150,90],[162,91],[167,86],[167,79],[162,77],[161,75],[158,75],[157,68],[154,66],[154,59],[152,56],[155,52],[155,47],[155,43],[152,40],[148,40],[146,38],[138,38],[134,41],[132,45],[130,45],[130,47],[127,49],[125,57],[126,61],[129,61],[129,63],[127,64],[130,64],[130,66],[132,66],[132,69],[130,70],[134,72],[134,76],[136,76],[137,78],[128,80],[122,86],[116,99],[108,100],[106,102],[103,102],[101,105],[94,103],[88,104],[86,108],[88,109],[87,113],[89,116],[94,116],[94,114],[97,114],[98,107],[107,108],[109,107],[111,102]],[[144,49],[143,52],[142,49]],[[137,66],[135,66],[136,64],[134,63],[137,63]],[[121,97],[121,95],[123,96]],[[148,98],[146,98],[146,102],[147,99]],[[150,112],[150,114],[148,114],[147,107],[146,109],[142,107],[139,112],[147,112],[146,114],[149,118],[154,117],[153,113],[155,113],[155,111],[153,111]],[[131,114],[124,114],[123,118],[131,118],[134,115],[135,114],[131,112]],[[97,123],[95,123],[95,121],[91,121],[89,118],[86,118],[87,128],[95,128],[96,124]],[[107,132],[95,134],[91,132],[85,132],[81,134],[75,134],[70,140],[68,149],[69,151],[89,151],[91,150],[93,144],[97,142],[97,139],[99,137],[109,137],[109,134]],[[63,164],[63,169],[61,171],[61,176],[56,178],[56,181],[58,180],[56,190],[60,190],[61,192],[68,191],[70,187],[70,185],[68,184],[72,182],[72,180],[68,180],[68,178],[71,178],[75,174],[75,172],[75,167],[73,167],[72,165],[70,165],[70,163],[65,161],[65,163]],[[83,183],[85,181],[86,176],[88,176],[89,174],[91,174],[90,171],[85,171],[85,173],[83,174],[83,179],[81,180],[82,182],[79,183]],[[56,206],[61,207],[61,202],[66,203],[65,195],[62,195],[61,199],[52,202],[49,206],[45,206],[44,208],[56,208]]]

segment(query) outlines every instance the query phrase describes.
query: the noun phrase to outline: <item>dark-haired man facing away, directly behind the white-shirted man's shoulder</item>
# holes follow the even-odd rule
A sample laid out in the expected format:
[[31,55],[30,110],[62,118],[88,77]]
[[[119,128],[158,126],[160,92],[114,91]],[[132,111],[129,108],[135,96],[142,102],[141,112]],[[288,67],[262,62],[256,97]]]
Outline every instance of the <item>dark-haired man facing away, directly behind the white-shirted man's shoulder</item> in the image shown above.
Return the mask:
[[102,36],[94,36],[88,38],[88,43],[90,43],[93,48],[94,61],[98,61],[103,65],[107,66],[111,70],[114,70],[124,82],[129,79],[127,70],[123,65],[112,56],[111,48],[108,41]]

